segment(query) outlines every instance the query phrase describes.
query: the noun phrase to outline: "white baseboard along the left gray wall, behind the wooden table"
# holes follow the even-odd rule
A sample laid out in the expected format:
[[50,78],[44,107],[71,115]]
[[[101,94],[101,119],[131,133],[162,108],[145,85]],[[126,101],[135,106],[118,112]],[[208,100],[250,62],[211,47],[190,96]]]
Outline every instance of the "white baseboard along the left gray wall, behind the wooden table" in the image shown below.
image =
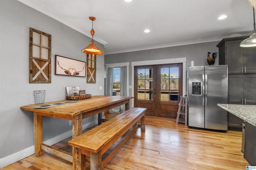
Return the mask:
[[[85,130],[86,128],[92,127],[93,125],[96,125],[97,123],[98,123],[98,120],[94,120],[90,123],[86,123],[86,124],[82,125],[82,130]],[[45,140],[45,141],[43,141],[43,143],[51,146],[51,145],[56,144],[56,143],[66,139],[70,136],[72,136],[72,130],[69,130],[68,132],[64,132],[60,135],[57,135],[54,138],[50,138],[48,140]],[[26,148],[24,150],[21,150],[19,152],[16,152],[14,154],[11,154],[9,156],[1,158],[0,159],[0,169],[4,168],[5,166],[8,166],[10,164],[13,164],[14,162],[22,160],[22,159],[24,159],[24,158],[26,158],[26,157],[34,154],[34,153],[35,153],[35,147],[33,145],[33,146],[30,146],[29,148]]]

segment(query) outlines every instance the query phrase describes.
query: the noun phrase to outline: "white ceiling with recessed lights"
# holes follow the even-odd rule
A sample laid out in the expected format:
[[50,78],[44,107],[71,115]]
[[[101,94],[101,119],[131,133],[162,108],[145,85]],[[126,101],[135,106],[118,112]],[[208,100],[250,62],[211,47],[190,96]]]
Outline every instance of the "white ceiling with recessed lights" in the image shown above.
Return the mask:
[[[105,54],[219,41],[253,30],[248,0],[19,1],[90,38],[89,16],[96,17],[94,40],[104,44]],[[218,20],[221,14],[228,17]]]

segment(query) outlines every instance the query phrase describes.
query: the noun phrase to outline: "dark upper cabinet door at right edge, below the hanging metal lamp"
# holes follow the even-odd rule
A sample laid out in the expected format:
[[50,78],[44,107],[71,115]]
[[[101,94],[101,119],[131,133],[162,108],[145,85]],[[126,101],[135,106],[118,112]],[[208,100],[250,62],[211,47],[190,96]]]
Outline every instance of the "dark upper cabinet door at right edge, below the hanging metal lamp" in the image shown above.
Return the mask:
[[256,47],[242,48],[244,73],[256,73]]

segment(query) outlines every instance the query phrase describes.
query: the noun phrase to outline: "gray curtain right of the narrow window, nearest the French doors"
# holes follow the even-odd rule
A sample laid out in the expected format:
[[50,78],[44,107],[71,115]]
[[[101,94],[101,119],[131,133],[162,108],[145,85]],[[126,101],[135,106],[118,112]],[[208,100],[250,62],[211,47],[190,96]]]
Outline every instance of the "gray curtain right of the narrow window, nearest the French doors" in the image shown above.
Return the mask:
[[[120,96],[127,96],[126,86],[126,67],[120,67]],[[123,113],[125,105],[120,106],[119,113]]]

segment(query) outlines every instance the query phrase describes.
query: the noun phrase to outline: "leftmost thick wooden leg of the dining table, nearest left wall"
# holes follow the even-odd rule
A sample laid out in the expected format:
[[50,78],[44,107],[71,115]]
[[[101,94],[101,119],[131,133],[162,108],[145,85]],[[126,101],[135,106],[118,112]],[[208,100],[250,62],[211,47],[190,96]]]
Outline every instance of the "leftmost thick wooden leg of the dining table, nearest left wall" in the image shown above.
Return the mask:
[[37,112],[34,112],[34,140],[36,157],[39,157],[43,154],[43,151],[41,150],[41,144],[43,142],[42,125],[42,116],[37,115]]

